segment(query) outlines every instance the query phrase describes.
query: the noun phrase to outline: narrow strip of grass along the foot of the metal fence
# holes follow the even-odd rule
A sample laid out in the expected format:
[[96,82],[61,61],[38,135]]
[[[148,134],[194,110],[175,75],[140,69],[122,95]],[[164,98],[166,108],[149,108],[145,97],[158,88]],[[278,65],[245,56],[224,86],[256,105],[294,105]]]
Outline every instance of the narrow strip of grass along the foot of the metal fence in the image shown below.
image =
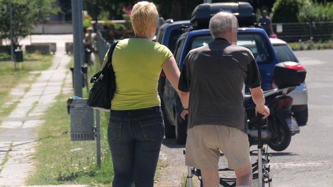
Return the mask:
[[312,40],[309,40],[306,42],[295,42],[288,44],[293,51],[333,49],[333,40],[329,40],[326,42],[313,42]]

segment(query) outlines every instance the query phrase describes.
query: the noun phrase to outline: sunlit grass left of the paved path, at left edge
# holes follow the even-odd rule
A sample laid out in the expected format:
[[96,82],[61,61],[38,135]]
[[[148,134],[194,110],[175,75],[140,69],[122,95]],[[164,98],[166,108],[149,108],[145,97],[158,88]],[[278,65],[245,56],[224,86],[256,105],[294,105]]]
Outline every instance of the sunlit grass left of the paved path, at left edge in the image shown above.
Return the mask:
[[[14,70],[14,62],[0,61],[0,117],[8,114],[16,107],[17,101],[14,101],[4,109],[3,105],[13,97],[9,95],[13,86],[18,84],[28,84],[35,82],[40,74],[30,74],[32,71],[47,70],[52,65],[52,55],[24,54],[24,62],[18,63],[18,71]],[[24,88],[24,92],[29,91],[29,87]]]

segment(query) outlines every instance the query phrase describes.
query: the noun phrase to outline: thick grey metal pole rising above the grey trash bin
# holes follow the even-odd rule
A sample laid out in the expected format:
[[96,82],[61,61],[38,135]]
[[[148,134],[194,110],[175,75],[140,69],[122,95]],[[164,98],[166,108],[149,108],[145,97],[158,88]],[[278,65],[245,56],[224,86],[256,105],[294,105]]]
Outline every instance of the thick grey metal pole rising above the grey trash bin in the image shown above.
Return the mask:
[[[83,58],[80,43],[83,41],[80,37],[80,31],[82,31],[82,12],[80,12],[80,4],[82,6],[82,0],[72,0],[72,20],[73,20],[73,54],[74,54],[74,95],[82,97],[82,73],[81,73],[81,61]],[[81,24],[80,24],[81,23]]]

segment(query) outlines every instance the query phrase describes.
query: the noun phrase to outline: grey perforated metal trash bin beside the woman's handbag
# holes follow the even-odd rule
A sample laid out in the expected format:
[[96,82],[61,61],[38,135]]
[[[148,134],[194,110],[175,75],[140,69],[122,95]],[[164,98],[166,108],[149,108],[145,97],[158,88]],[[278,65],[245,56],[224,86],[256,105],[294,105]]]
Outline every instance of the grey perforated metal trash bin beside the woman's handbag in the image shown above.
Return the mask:
[[87,99],[73,99],[69,110],[71,141],[95,140],[94,108],[87,105]]

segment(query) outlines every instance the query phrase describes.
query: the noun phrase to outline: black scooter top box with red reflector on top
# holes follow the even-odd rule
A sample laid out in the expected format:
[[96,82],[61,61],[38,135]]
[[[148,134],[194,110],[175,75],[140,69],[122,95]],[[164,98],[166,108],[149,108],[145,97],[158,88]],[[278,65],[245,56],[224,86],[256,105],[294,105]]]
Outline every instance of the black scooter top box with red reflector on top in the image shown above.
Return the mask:
[[273,79],[279,89],[304,83],[306,70],[297,62],[282,62],[274,66]]

